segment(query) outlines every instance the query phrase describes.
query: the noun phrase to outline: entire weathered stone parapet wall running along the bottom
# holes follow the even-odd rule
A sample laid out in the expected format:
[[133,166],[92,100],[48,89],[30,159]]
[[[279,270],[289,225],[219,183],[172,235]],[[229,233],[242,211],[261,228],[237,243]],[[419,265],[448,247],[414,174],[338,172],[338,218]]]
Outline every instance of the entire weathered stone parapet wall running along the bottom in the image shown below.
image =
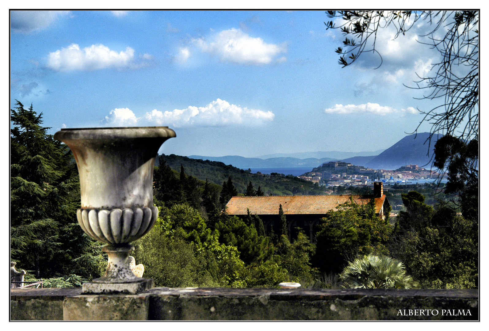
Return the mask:
[[[58,294],[56,294],[58,293]],[[12,319],[478,320],[477,289],[279,289],[156,287],[139,295],[78,295],[80,289],[12,289]],[[39,301],[40,304],[20,303]],[[54,307],[55,304],[53,303]],[[30,310],[30,311],[26,311]],[[35,311],[34,311],[35,310]],[[429,310],[429,313],[427,311]],[[435,314],[436,312],[436,314]],[[464,312],[465,314],[460,314]],[[20,317],[19,317],[20,316]],[[58,315],[52,319],[59,318]]]

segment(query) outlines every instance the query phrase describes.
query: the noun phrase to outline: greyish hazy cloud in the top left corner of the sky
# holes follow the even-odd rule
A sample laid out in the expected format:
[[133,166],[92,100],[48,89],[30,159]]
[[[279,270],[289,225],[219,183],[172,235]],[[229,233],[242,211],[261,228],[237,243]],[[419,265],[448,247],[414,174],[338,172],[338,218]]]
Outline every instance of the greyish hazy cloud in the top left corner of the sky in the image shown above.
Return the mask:
[[43,29],[68,13],[66,10],[13,10],[10,12],[10,27],[13,31],[28,33]]

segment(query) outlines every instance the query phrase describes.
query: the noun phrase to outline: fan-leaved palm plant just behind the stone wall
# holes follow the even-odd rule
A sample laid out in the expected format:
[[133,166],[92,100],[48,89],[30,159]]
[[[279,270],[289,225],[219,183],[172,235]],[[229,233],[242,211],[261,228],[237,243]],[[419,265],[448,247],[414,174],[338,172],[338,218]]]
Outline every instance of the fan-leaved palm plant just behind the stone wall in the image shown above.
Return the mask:
[[387,256],[364,255],[348,263],[340,274],[344,288],[418,288],[402,262]]

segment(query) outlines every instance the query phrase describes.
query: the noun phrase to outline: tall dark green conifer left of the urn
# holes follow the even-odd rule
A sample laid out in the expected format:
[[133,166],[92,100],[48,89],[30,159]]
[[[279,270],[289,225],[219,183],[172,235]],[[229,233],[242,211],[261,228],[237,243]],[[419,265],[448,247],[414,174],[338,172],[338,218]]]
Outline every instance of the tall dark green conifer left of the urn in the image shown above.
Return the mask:
[[78,172],[66,145],[47,134],[42,113],[17,102],[10,131],[10,254],[36,278],[100,276],[101,245],[76,221]]

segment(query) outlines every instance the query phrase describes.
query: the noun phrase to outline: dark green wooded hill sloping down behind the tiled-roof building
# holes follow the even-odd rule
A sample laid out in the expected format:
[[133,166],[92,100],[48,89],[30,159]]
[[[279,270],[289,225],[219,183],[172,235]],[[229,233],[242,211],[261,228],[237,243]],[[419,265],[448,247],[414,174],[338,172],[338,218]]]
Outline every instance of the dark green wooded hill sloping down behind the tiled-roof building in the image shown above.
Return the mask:
[[[183,165],[186,175],[196,177],[200,180],[205,181],[207,179],[211,183],[222,185],[231,176],[238,194],[244,194],[246,192],[246,187],[250,181],[253,183],[255,190],[260,186],[265,195],[270,195],[270,193],[274,196],[324,194],[324,190],[320,189],[317,184],[299,179],[298,177],[283,177],[279,174],[278,176],[251,174],[218,161],[193,159],[175,154],[162,154],[161,156],[173,170],[180,172],[180,165]],[[156,165],[159,165],[158,157],[156,157],[156,160]]]

